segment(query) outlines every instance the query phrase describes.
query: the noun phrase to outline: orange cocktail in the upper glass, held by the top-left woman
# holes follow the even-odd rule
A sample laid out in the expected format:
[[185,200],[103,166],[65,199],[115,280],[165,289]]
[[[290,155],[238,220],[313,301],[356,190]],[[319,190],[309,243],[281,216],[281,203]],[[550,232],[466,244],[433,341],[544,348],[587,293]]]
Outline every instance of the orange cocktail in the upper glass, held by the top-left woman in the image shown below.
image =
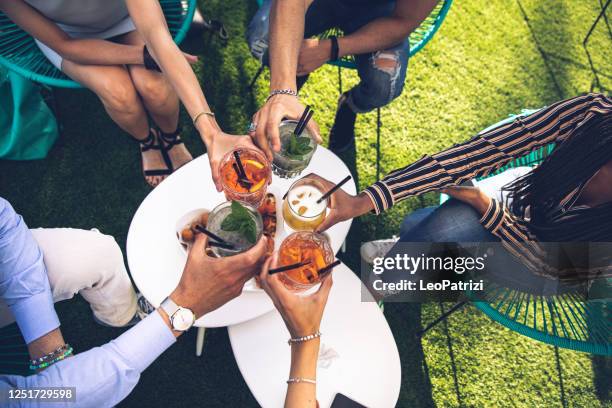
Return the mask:
[[226,154],[219,172],[228,201],[242,201],[256,208],[262,203],[272,180],[266,157],[258,150],[245,147]]

